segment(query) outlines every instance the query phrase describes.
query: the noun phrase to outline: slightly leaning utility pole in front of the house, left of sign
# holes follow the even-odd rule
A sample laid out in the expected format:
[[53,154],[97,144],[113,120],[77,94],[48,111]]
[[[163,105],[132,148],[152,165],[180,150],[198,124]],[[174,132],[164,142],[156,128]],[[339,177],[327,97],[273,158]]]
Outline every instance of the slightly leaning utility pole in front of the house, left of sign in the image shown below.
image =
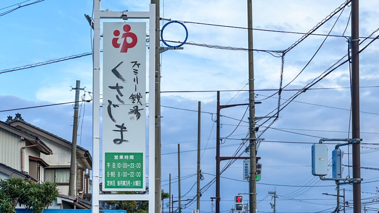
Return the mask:
[[70,163],[70,181],[69,181],[69,196],[72,196],[72,197],[76,195],[75,193],[76,191],[75,182],[77,181],[77,178],[75,176],[76,174],[76,139],[77,139],[77,134],[78,134],[78,113],[79,113],[80,90],[84,90],[84,88],[80,88],[80,81],[77,80],[76,86],[75,86],[74,124],[72,125],[71,163]]

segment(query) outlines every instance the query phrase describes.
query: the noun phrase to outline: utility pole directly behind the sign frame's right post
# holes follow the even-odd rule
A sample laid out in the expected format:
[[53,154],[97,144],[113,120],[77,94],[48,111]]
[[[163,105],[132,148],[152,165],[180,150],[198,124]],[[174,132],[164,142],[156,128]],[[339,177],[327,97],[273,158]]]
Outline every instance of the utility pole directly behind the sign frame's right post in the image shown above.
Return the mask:
[[[150,33],[155,33],[155,41],[150,41],[150,47],[155,49],[155,213],[161,211],[161,66],[160,66],[160,23],[159,23],[159,0],[151,0],[155,4],[155,29],[150,29]],[[151,100],[153,101],[153,100]]]

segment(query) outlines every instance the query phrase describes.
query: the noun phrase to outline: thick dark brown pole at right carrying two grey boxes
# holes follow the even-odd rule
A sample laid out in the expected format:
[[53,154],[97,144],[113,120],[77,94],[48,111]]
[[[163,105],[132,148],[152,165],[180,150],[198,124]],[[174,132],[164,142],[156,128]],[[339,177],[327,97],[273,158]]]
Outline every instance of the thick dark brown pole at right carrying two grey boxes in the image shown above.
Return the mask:
[[[360,138],[359,121],[359,0],[351,1],[351,131]],[[353,178],[360,178],[360,147],[352,144]],[[353,213],[361,212],[360,182],[353,183]]]

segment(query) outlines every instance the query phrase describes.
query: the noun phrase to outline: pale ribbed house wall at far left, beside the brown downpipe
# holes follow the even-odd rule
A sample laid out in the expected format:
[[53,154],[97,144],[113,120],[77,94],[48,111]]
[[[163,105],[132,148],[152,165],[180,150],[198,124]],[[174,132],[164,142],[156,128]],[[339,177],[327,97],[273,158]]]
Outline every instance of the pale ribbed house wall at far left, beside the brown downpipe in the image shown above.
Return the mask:
[[0,128],[0,163],[21,171],[21,147],[25,141],[5,129]]

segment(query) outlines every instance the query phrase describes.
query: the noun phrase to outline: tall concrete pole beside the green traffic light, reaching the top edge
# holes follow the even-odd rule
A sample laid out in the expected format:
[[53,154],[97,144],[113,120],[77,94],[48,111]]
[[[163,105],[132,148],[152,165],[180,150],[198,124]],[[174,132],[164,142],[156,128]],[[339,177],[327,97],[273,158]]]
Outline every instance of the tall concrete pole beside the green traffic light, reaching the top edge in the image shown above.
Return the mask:
[[[256,152],[255,152],[255,103],[254,103],[254,59],[253,59],[253,17],[252,0],[247,0],[247,42],[249,48],[249,143],[250,143],[250,178],[249,206],[250,213],[257,212]],[[354,212],[355,213],[355,212]]]

